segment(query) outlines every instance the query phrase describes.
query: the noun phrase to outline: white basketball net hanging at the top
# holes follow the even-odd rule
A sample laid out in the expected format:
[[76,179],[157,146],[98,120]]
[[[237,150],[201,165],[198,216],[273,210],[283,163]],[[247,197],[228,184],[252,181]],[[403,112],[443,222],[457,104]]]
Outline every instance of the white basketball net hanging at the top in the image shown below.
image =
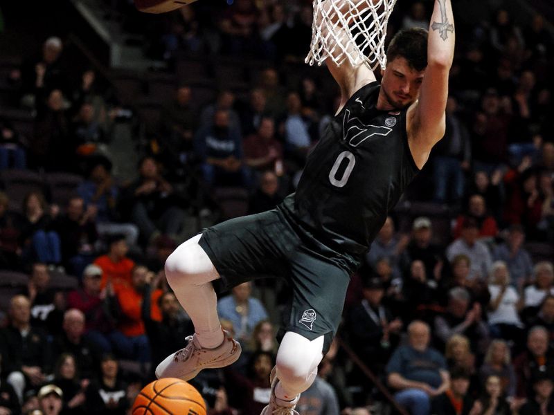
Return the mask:
[[321,65],[330,57],[340,66],[366,64],[384,69],[386,24],[396,0],[314,0],[312,45],[305,62]]

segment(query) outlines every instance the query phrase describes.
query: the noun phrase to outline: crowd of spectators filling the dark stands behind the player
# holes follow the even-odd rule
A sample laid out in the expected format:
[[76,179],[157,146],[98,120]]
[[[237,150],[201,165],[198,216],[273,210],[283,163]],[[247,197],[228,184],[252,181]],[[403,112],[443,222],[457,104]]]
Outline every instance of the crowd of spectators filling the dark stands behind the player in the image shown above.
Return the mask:
[[[283,64],[309,48],[311,1],[199,1],[155,24],[128,2],[107,3],[170,68],[199,55],[264,68],[246,93],[224,88],[203,107],[180,78],[148,145],[127,149],[141,157],[136,178],[120,181],[109,144],[126,111],[114,90],[97,71],[74,73],[58,37],[21,57],[6,82],[33,130],[0,118],[0,181],[22,170],[80,181],[63,204],[44,185],[0,192],[0,274],[28,275],[16,291],[0,278],[0,415],[128,414],[157,363],[193,333],[163,270],[200,230],[191,219],[224,219],[225,190],[247,192],[244,213],[274,208],[337,108],[328,77],[283,82]],[[431,7],[398,2],[391,33],[427,28]],[[448,224],[390,212],[300,414],[387,414],[366,368],[412,415],[554,414],[554,37],[538,14],[521,26],[503,8],[470,14],[455,10],[445,138],[401,202],[443,209]],[[284,282],[260,280],[220,298],[243,354],[193,380],[211,415],[267,405],[288,295]]]

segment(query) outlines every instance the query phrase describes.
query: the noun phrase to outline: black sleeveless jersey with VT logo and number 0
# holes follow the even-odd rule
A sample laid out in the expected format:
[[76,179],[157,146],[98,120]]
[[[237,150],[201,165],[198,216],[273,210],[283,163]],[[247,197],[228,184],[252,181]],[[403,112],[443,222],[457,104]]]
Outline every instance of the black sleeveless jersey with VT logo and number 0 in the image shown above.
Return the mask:
[[376,109],[379,89],[372,82],[352,95],[308,156],[296,193],[280,205],[299,232],[355,266],[419,172],[406,109]]

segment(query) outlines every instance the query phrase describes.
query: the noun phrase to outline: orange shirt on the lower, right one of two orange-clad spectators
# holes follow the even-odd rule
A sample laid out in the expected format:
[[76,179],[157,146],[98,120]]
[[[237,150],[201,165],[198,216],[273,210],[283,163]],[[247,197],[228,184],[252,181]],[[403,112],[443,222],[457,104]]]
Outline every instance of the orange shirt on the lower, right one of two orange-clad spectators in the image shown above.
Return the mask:
[[[138,293],[129,284],[116,284],[114,291],[121,308],[121,318],[118,329],[127,336],[143,335],[145,333],[142,319],[143,294]],[[162,295],[161,290],[152,292],[150,315],[152,320],[161,321],[161,311],[158,306],[158,299]]]

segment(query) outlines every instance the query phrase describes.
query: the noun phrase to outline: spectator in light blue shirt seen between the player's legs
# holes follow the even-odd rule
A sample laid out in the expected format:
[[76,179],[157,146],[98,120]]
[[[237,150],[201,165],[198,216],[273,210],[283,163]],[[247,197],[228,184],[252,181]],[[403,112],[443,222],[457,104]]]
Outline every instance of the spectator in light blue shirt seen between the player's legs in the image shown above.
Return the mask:
[[235,335],[245,341],[252,335],[252,330],[258,322],[267,319],[267,311],[259,299],[251,297],[251,282],[235,286],[231,295],[217,302],[217,313],[221,318],[229,320],[235,327]]

